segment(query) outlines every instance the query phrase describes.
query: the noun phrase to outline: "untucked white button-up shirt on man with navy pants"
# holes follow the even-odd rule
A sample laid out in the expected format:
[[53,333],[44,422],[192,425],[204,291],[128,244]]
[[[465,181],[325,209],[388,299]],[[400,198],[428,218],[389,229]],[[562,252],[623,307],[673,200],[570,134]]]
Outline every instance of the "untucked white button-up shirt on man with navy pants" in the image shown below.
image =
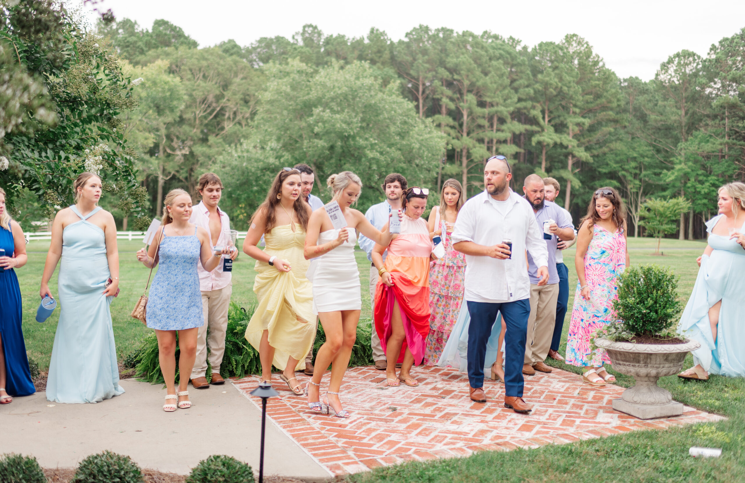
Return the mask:
[[512,190],[507,202],[498,202],[483,191],[460,208],[453,243],[494,246],[505,239],[513,243],[509,260],[466,255],[466,301],[498,303],[530,298],[525,250],[537,266],[548,266],[548,248],[530,203]]

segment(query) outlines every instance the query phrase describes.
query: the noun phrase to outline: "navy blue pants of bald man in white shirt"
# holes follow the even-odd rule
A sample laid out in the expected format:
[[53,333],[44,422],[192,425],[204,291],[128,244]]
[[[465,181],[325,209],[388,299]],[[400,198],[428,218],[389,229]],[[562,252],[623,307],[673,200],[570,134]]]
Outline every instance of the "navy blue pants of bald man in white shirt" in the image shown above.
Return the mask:
[[[486,342],[492,333],[497,313],[507,324],[504,334],[504,394],[522,397],[524,380],[522,362],[525,357],[527,319],[530,316],[530,299],[501,304],[467,301],[471,323],[468,327],[468,380],[472,388],[484,386],[484,358]],[[501,349],[501,348],[500,348]]]

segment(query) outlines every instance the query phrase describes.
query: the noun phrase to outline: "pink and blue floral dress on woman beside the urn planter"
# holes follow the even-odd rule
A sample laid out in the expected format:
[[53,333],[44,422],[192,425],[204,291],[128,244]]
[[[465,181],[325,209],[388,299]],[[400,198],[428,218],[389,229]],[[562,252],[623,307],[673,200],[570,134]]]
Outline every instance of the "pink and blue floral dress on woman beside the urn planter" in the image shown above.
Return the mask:
[[590,338],[616,316],[613,301],[618,298],[616,277],[626,268],[626,238],[624,228],[610,233],[594,225],[592,240],[585,254],[585,281],[590,286],[590,300],[580,295],[580,284],[574,292],[569,334],[566,341],[566,363],[600,367],[610,362],[603,349],[590,350]]

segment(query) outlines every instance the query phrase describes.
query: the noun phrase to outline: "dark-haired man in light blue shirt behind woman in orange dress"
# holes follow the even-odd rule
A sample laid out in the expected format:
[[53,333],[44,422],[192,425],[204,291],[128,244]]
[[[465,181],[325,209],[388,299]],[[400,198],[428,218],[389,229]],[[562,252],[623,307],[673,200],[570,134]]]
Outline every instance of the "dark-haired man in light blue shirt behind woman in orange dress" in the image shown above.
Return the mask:
[[[365,213],[367,220],[370,223],[381,230],[390,217],[391,211],[401,209],[401,194],[407,188],[406,178],[399,173],[391,173],[385,177],[383,182],[383,191],[385,193],[385,201],[378,203],[377,205],[370,206]],[[373,314],[375,313],[375,287],[378,285],[378,269],[375,269],[373,265],[373,258],[370,255],[373,253],[375,248],[375,242],[370,238],[360,234],[359,237],[360,248],[367,252],[367,260],[370,260],[370,305],[373,306]],[[383,260],[387,252],[383,254]],[[370,340],[370,345],[373,347],[373,360],[375,361],[375,368],[380,371],[385,371],[388,364],[385,360],[385,352],[380,344],[380,338],[378,333],[375,332],[375,321],[373,321],[373,336]]]

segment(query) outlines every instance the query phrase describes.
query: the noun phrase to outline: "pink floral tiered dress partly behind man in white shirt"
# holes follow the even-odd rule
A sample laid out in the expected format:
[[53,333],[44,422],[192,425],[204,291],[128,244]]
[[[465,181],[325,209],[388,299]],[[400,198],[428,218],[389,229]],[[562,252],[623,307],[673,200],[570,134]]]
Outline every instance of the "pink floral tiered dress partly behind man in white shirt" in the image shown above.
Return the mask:
[[451,232],[446,231],[445,220],[440,220],[440,228],[445,234],[445,257],[431,262],[429,269],[431,316],[424,356],[425,365],[437,365],[460,313],[460,304],[463,302],[466,257],[453,249]]

